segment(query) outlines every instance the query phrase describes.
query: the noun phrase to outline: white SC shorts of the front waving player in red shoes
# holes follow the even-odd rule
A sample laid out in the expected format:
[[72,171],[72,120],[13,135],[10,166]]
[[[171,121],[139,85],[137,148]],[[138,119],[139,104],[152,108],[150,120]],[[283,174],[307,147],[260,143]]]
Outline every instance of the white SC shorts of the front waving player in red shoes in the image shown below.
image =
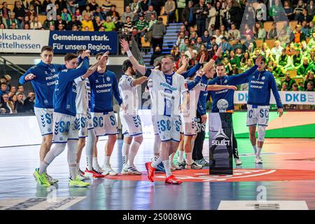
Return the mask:
[[155,123],[159,130],[161,141],[180,141],[181,117],[156,116]]

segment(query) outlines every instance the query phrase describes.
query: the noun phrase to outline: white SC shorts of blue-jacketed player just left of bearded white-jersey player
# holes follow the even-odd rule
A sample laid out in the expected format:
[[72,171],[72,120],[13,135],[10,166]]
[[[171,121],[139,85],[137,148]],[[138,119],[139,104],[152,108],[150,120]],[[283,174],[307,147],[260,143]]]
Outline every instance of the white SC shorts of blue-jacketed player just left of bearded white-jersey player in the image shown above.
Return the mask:
[[113,112],[92,113],[93,126],[97,137],[118,134],[116,116]]

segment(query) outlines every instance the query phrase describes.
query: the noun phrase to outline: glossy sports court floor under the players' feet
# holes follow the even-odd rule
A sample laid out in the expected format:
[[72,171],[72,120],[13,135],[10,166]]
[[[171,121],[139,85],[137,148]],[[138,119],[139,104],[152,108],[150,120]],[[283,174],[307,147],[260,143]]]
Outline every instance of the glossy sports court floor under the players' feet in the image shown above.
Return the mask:
[[[0,209],[315,209],[315,139],[266,139],[262,165],[254,164],[249,139],[238,142],[243,165],[233,176],[209,176],[209,169],[176,171],[181,186],[165,185],[163,174],[156,174],[155,183],[146,179],[144,163],[153,155],[153,139],[144,140],[135,160],[142,176],[93,179],[89,188],[67,186],[65,151],[48,167],[59,184],[47,189],[32,176],[39,146],[0,148]],[[100,165],[105,143],[99,142]],[[119,140],[111,158],[118,171],[122,144]]]

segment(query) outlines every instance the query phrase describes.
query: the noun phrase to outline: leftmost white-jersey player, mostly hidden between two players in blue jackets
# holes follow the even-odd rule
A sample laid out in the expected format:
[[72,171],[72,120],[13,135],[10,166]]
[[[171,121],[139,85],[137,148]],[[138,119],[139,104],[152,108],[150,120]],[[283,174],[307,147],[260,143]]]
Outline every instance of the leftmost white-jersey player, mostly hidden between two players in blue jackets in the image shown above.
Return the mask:
[[[80,55],[78,52],[78,55]],[[109,52],[104,54],[104,57],[109,55]],[[85,73],[83,77],[90,76],[97,69],[97,66],[102,61],[97,61],[90,69]],[[104,175],[100,174],[92,167],[93,160],[93,151],[94,151],[94,141],[96,139],[94,133],[94,126],[92,123],[92,116],[90,113],[90,99],[91,99],[91,88],[90,81],[88,78],[78,77],[74,80],[76,83],[76,118],[79,122],[79,130],[78,130],[78,154],[77,154],[77,166],[78,166],[78,179],[83,181],[87,178],[104,178]],[[85,154],[87,159],[87,168],[85,172],[80,170],[80,158],[82,155],[83,148],[85,146],[85,139],[88,137],[87,141],[90,144],[87,144],[85,148]]]

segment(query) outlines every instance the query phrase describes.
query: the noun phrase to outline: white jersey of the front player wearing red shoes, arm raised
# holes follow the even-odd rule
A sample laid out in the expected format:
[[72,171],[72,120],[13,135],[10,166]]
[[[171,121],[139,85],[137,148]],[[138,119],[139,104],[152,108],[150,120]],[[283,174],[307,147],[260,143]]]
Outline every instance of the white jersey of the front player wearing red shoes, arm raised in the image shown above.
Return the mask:
[[151,78],[151,113],[160,116],[179,116],[181,95],[187,92],[187,84],[178,73],[166,75],[156,69],[146,69],[146,76]]

